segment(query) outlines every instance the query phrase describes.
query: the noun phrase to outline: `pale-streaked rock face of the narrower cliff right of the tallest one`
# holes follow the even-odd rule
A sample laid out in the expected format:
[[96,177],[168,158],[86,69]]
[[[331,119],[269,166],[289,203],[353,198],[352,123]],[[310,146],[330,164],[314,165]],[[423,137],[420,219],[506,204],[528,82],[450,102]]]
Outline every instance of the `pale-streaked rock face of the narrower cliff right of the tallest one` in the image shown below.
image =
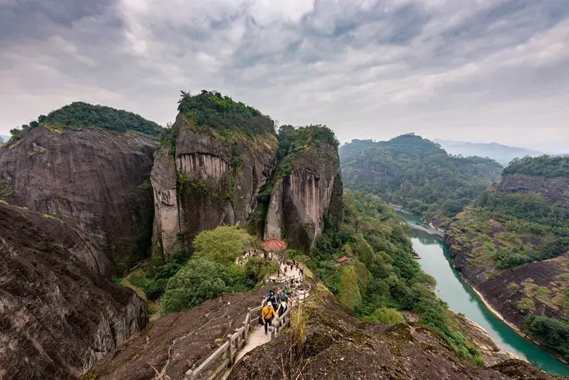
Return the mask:
[[[279,183],[280,182],[280,183]],[[341,221],[342,181],[336,147],[322,143],[299,152],[291,174],[272,191],[265,238],[287,238],[292,246],[310,250],[328,222]]]

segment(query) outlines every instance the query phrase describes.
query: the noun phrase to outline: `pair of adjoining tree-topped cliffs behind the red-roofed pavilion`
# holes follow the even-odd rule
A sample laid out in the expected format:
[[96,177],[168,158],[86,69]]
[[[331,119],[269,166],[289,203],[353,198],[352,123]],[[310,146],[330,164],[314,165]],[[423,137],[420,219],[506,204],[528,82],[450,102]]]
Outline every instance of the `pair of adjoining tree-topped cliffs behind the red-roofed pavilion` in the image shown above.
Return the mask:
[[341,221],[337,141],[326,127],[284,126],[216,92],[184,93],[156,153],[153,252],[168,259],[220,224],[310,250]]

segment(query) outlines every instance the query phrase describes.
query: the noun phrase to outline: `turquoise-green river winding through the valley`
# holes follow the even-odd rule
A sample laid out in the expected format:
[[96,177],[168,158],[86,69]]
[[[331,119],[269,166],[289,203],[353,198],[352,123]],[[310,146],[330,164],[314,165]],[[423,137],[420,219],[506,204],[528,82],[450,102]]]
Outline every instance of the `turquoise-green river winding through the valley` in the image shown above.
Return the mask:
[[[403,216],[411,227],[415,226],[411,242],[415,252],[421,256],[418,261],[422,269],[437,280],[435,292],[440,299],[447,302],[450,310],[461,312],[484,327],[503,350],[526,358],[544,371],[569,376],[568,365],[516,334],[511,327],[490,312],[472,287],[464,283],[452,265],[447,244],[442,238],[433,234],[435,230],[425,225],[420,218],[405,213]],[[430,230],[430,233],[426,230]]]

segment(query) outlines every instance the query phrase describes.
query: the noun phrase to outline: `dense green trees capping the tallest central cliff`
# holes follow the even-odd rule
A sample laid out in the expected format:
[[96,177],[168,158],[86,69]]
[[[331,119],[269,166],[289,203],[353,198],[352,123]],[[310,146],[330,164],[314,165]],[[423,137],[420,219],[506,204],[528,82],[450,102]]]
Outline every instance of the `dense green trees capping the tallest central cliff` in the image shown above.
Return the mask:
[[240,133],[248,137],[275,134],[275,123],[270,117],[216,91],[202,90],[197,95],[182,91],[178,110],[191,127],[208,128],[228,139]]

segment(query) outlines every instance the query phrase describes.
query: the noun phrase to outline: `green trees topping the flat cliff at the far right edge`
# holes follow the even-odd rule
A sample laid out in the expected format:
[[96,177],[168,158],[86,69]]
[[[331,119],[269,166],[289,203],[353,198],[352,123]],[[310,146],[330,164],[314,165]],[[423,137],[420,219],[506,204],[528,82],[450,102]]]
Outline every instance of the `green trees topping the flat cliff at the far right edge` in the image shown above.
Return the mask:
[[526,176],[569,176],[569,157],[551,157],[544,154],[540,157],[523,157],[513,159],[504,169],[506,174],[523,174]]

